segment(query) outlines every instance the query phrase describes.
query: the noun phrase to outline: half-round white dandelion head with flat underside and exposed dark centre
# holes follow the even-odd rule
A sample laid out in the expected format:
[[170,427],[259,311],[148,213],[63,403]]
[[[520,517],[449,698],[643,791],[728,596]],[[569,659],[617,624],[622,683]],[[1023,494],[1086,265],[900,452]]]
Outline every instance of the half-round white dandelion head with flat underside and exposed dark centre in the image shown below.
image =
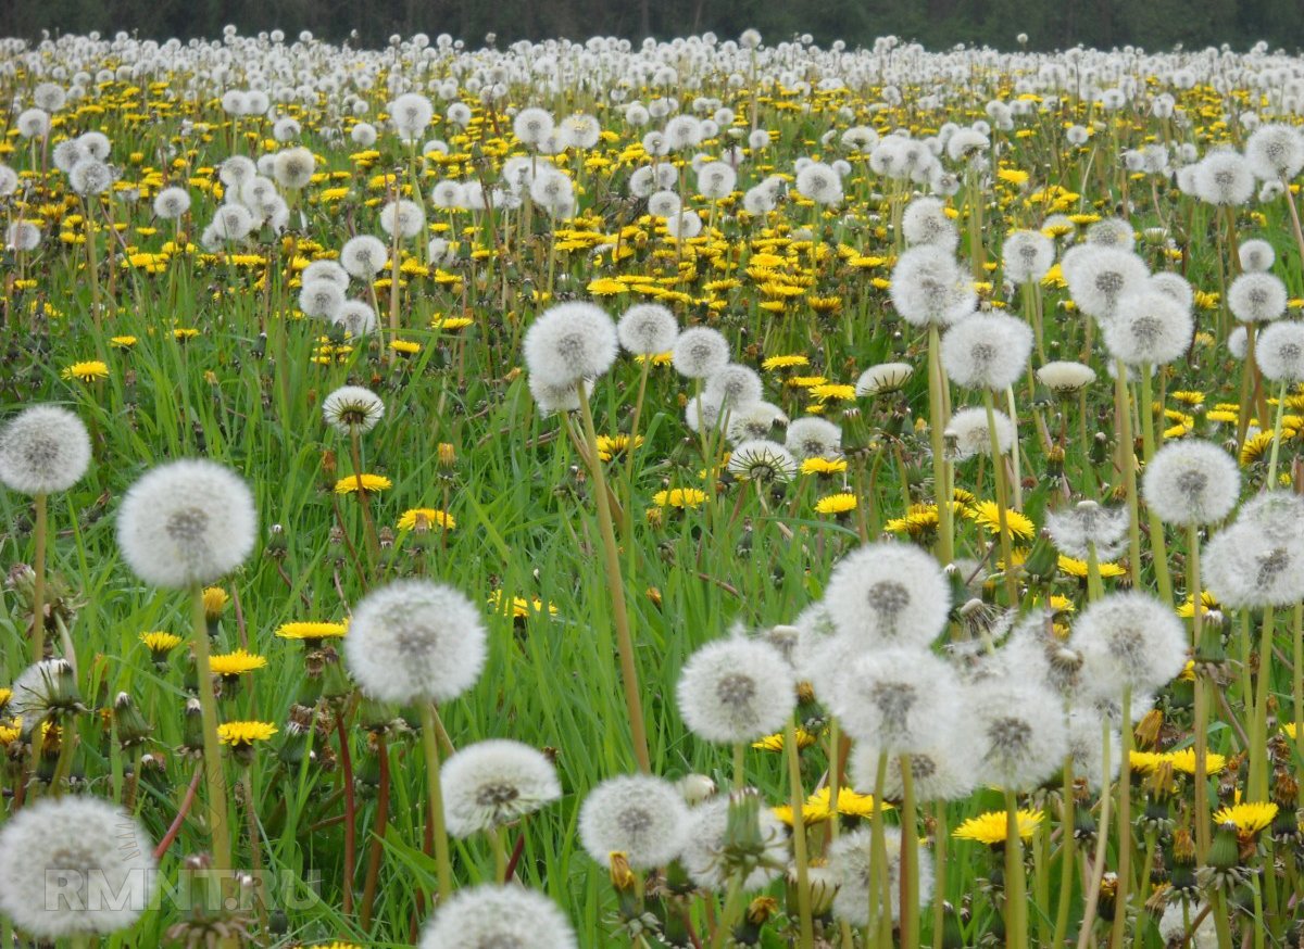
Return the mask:
[[469,837],[511,824],[561,796],[557,768],[520,742],[493,739],[460,748],[439,769],[449,833]]

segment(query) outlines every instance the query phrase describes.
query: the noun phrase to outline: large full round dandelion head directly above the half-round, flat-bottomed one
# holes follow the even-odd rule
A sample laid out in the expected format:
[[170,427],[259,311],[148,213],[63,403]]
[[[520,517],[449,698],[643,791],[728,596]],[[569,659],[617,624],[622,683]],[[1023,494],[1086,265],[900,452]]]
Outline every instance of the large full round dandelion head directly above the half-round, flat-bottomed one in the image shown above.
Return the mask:
[[486,637],[480,610],[452,587],[398,580],[357,604],[344,658],[373,699],[450,701],[480,678]]

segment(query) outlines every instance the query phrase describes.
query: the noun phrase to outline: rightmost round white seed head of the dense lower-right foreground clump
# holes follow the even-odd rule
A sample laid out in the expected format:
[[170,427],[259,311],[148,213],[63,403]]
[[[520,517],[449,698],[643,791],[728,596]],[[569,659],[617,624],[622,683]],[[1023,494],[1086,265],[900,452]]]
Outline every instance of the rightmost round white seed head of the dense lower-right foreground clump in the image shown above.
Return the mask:
[[1141,591],[1108,593],[1073,623],[1069,644],[1082,656],[1091,691],[1153,692],[1187,664],[1187,634],[1171,607]]

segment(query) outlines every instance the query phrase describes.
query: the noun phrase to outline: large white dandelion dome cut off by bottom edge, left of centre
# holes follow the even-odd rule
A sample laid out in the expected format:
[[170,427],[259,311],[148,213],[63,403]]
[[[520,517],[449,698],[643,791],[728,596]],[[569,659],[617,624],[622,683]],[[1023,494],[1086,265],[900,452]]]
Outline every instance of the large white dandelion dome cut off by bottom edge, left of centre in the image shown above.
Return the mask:
[[419,949],[578,949],[575,929],[552,899],[516,884],[485,883],[445,898]]

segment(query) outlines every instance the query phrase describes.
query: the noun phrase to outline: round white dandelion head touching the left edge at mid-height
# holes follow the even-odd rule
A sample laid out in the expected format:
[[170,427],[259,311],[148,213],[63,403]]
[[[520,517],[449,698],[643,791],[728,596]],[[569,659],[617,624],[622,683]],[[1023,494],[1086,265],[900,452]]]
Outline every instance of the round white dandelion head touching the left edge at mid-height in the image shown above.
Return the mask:
[[31,405],[0,429],[0,484],[20,494],[53,494],[81,481],[90,465],[82,420],[59,405]]

